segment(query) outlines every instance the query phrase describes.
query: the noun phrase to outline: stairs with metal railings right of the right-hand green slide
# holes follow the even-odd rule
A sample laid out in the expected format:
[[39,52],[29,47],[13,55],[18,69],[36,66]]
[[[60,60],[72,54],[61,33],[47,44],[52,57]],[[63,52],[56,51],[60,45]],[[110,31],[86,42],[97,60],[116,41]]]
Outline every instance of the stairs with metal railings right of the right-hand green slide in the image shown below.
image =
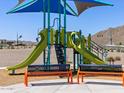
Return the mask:
[[105,60],[107,57],[107,50],[104,49],[102,46],[98,45],[94,41],[91,41],[91,50],[90,51],[102,60]]

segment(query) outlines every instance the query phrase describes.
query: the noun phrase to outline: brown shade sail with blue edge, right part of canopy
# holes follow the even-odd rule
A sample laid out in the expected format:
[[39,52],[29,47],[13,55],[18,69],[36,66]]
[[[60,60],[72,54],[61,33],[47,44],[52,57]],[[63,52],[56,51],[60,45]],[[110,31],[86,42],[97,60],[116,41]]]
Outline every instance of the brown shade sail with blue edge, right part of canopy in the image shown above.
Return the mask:
[[78,15],[80,15],[82,12],[84,12],[86,9],[96,6],[113,6],[112,4],[108,4],[105,2],[102,2],[100,0],[69,0],[74,1]]

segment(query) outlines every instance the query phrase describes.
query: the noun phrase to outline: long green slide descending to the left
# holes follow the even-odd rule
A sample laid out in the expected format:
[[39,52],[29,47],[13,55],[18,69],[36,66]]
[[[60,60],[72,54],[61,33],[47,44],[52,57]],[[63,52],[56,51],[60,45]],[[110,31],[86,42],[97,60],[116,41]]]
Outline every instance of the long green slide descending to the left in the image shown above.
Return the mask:
[[38,43],[38,45],[32,51],[32,53],[22,63],[17,64],[15,66],[7,67],[7,70],[16,70],[32,64],[40,56],[43,50],[47,47],[47,32],[48,30],[44,29],[39,33],[41,41]]

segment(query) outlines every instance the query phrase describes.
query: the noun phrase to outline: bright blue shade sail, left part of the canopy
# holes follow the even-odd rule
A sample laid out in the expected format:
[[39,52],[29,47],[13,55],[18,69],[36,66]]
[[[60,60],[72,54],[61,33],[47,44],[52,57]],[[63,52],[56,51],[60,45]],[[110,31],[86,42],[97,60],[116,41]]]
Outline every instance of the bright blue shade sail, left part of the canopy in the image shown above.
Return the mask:
[[[46,12],[48,10],[48,0],[25,0],[24,2],[17,5],[8,13],[22,13],[22,12],[42,12],[44,7]],[[19,1],[20,2],[20,1]],[[64,14],[64,7],[59,4],[58,0],[50,0],[50,12]],[[73,15],[66,10],[67,15]]]

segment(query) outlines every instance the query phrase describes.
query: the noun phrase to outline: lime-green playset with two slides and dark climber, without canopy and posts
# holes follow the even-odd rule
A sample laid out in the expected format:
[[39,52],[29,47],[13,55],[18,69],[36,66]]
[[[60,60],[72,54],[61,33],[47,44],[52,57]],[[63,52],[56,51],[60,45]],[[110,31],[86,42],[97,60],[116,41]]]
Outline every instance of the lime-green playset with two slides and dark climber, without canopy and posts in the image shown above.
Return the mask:
[[[27,65],[32,64],[40,56],[40,54],[44,51],[44,49],[47,48],[47,39],[48,39],[47,34],[48,34],[48,29],[42,30],[39,33],[39,35],[42,39],[38,43],[36,48],[33,50],[33,52],[29,55],[29,57],[26,60],[24,60],[24,62],[21,64],[18,64],[14,67],[8,67],[8,70],[16,70],[16,69],[24,68]],[[95,54],[95,52],[94,53],[91,52],[91,51],[94,51],[93,48],[91,48],[91,47],[87,48],[86,39],[81,38],[84,36],[81,36],[79,32],[66,32],[66,34],[67,34],[66,48],[73,48],[74,49],[75,59],[77,59],[77,58],[80,59],[80,60],[77,59],[78,60],[77,64],[81,64],[83,62],[85,62],[85,64],[89,64],[90,62],[93,62],[95,64],[105,64],[103,59],[99,58]],[[64,36],[63,35],[64,35],[64,29],[60,33],[61,44],[57,44],[57,42],[58,42],[56,39],[57,38],[56,37],[57,31],[55,31],[52,28],[50,30],[50,37],[51,37],[50,38],[50,45],[55,45],[56,54],[59,55],[59,56],[57,56],[58,64],[66,64],[66,63],[64,63],[64,56],[63,56],[63,46],[64,46]],[[78,35],[79,38],[75,38],[74,35]],[[83,42],[83,41],[85,41],[85,42]],[[88,40],[88,42],[91,42],[90,39]],[[88,46],[90,46],[91,43],[88,43],[88,42],[87,42],[87,44],[88,44]],[[104,58],[103,54],[101,54],[101,56],[102,56],[102,58]],[[85,57],[85,60],[86,59],[88,59],[88,60],[86,60],[86,61],[81,60],[81,58],[83,58],[83,57]],[[48,64],[47,61],[45,61],[44,64]],[[77,67],[75,67],[75,68],[77,68]]]

